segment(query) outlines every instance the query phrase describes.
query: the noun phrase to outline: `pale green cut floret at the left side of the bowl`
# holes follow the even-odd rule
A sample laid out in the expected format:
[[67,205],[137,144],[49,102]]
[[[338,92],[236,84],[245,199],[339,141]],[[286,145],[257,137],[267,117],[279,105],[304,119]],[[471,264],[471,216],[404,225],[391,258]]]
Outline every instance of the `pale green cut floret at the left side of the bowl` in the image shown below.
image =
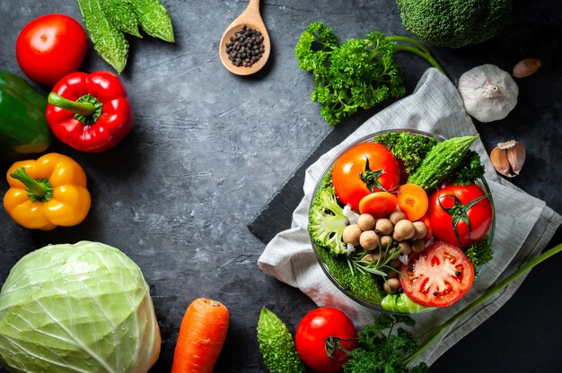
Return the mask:
[[346,229],[347,217],[338,204],[334,187],[331,186],[331,172],[322,180],[322,186],[312,200],[309,213],[308,230],[312,241],[338,255],[347,253],[347,245],[342,239]]

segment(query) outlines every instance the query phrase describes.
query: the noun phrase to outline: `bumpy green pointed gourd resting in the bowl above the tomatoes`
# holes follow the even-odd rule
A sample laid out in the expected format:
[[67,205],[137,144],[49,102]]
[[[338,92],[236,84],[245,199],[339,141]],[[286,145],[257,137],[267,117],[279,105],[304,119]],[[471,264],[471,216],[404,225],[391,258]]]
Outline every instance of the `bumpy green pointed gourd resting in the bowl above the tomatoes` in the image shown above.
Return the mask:
[[438,186],[461,164],[470,145],[478,138],[479,136],[453,137],[437,143],[427,152],[419,168],[409,176],[408,184],[417,184],[426,190]]

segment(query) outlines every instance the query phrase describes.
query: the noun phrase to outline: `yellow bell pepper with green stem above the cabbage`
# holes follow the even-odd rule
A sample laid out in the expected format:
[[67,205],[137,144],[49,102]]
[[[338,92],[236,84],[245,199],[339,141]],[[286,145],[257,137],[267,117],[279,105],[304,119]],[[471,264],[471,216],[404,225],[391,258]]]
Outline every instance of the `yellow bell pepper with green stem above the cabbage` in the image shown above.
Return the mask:
[[17,161],[8,169],[7,179],[4,209],[25,228],[70,227],[90,210],[86,173],[66,155],[51,152],[38,160]]

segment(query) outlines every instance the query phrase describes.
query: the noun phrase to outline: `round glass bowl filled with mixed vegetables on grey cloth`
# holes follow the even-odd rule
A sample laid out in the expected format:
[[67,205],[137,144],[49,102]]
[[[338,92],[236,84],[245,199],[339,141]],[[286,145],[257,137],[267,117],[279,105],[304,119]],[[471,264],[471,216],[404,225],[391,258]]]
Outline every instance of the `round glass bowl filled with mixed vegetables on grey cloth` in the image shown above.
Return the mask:
[[367,135],[324,169],[308,230],[330,282],[367,308],[452,305],[493,256],[494,201],[478,136],[398,129]]

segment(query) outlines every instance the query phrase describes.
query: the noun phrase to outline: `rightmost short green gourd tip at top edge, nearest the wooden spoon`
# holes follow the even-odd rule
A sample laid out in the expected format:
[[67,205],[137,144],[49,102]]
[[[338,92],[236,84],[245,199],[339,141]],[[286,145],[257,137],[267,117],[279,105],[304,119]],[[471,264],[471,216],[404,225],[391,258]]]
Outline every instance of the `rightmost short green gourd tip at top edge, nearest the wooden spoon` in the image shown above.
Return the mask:
[[168,11],[159,0],[127,0],[136,13],[141,28],[150,36],[174,42],[173,28]]

